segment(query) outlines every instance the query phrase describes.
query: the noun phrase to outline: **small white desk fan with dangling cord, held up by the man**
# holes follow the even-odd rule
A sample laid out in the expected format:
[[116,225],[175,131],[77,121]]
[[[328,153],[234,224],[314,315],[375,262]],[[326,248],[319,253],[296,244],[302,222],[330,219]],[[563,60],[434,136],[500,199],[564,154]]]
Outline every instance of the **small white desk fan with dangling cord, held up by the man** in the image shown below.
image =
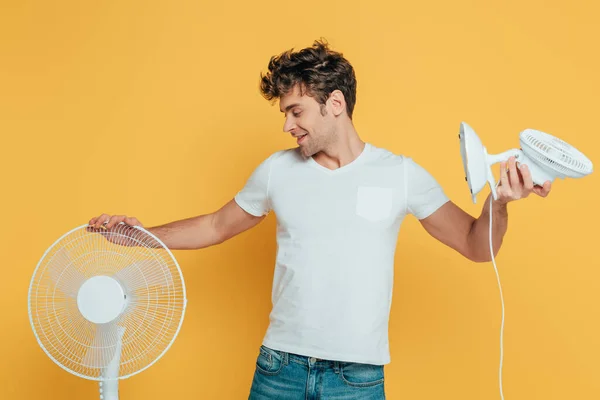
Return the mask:
[[502,303],[502,324],[500,328],[500,398],[504,400],[502,391],[502,363],[503,363],[503,338],[504,338],[504,296],[500,275],[494,259],[492,240],[492,205],[498,198],[497,185],[492,166],[502,161],[507,161],[515,156],[519,164],[527,165],[535,185],[542,186],[544,182],[554,182],[556,178],[581,178],[593,172],[592,162],[579,150],[563,140],[535,129],[525,129],[519,135],[521,148],[511,149],[500,154],[489,154],[481,143],[479,136],[473,128],[462,122],[458,134],[460,140],[460,154],[462,157],[465,179],[471,192],[473,203],[477,202],[477,194],[489,184],[492,191],[489,212],[489,247],[492,263],[496,271],[500,300]]

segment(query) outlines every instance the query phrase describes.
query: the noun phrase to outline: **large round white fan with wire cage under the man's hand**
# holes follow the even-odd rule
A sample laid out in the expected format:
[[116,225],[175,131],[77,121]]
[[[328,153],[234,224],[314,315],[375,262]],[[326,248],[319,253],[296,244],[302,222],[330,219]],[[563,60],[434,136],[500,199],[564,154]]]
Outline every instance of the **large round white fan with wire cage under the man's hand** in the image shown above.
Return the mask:
[[118,399],[118,380],[149,368],[171,347],[186,308],[171,251],[141,227],[83,225],[60,237],[29,286],[35,337],[60,367],[100,381]]

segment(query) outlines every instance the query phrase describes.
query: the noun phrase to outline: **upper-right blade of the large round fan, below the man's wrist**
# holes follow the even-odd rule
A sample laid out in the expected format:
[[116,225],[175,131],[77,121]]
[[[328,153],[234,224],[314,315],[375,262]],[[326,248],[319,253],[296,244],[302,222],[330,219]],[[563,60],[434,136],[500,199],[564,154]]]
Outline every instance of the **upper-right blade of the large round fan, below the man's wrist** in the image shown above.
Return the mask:
[[148,287],[173,286],[169,271],[155,264],[154,259],[135,262],[115,273],[115,277],[125,286],[127,293]]

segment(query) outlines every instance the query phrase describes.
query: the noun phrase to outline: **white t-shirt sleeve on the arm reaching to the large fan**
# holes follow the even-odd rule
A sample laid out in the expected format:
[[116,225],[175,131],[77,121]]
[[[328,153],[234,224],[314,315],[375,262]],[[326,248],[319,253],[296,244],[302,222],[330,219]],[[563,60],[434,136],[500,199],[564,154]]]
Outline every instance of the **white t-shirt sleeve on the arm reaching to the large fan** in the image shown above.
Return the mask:
[[269,179],[273,156],[264,160],[250,175],[236,196],[236,203],[255,217],[266,215],[271,210],[269,201]]

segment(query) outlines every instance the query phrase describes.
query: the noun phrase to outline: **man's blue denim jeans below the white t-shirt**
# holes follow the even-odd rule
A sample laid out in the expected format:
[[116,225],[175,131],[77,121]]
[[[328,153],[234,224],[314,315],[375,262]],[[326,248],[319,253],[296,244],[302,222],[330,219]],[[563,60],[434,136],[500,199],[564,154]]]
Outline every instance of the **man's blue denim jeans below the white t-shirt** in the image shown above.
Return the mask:
[[261,346],[249,400],[383,400],[383,365],[320,360]]

